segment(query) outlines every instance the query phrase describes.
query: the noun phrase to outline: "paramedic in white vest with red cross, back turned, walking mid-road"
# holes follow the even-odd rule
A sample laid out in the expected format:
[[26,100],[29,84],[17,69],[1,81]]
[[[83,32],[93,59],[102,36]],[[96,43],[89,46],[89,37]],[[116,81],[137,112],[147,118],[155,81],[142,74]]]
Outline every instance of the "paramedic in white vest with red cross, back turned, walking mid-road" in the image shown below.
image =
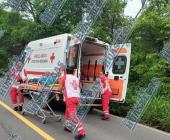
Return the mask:
[[[69,119],[73,116],[73,119],[76,120],[75,123],[78,123],[78,134],[75,136],[75,139],[81,140],[85,137],[85,130],[77,117],[77,107],[80,101],[80,82],[79,79],[73,75],[74,70],[67,69],[67,74],[60,78],[60,84],[62,88],[64,87],[64,101],[66,103],[66,111],[65,111],[65,121],[69,121]],[[65,127],[65,131],[71,132],[71,128]]]

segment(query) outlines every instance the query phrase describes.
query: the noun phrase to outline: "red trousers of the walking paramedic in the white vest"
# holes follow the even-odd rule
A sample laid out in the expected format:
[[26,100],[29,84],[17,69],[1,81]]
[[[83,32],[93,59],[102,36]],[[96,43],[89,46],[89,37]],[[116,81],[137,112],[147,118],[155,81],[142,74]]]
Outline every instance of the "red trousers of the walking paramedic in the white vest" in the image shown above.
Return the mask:
[[[74,123],[78,125],[78,134],[84,135],[86,132],[84,130],[83,124],[77,117],[77,107],[79,105],[79,98],[73,97],[66,100],[66,111],[65,111],[65,121],[71,119]],[[71,130],[71,128],[67,127]]]

